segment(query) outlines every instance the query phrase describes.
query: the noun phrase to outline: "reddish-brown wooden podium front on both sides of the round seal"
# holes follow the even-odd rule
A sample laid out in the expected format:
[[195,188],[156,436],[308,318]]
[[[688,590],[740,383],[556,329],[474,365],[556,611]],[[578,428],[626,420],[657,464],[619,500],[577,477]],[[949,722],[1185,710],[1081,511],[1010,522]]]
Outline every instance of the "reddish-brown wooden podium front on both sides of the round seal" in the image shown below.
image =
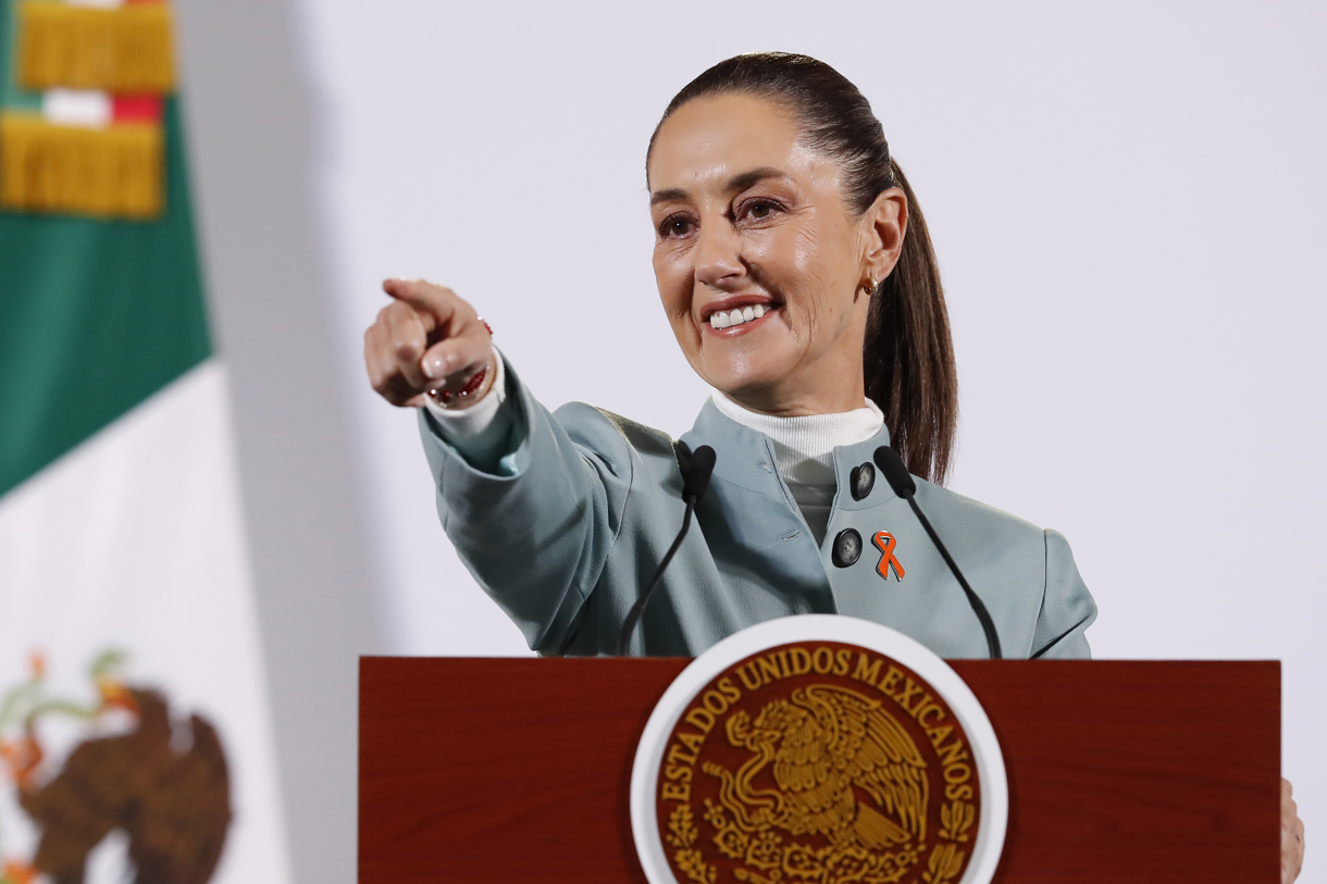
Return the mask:
[[[679,658],[360,662],[360,881],[644,884]],[[1003,884],[1279,881],[1281,664],[951,661],[1005,753]]]

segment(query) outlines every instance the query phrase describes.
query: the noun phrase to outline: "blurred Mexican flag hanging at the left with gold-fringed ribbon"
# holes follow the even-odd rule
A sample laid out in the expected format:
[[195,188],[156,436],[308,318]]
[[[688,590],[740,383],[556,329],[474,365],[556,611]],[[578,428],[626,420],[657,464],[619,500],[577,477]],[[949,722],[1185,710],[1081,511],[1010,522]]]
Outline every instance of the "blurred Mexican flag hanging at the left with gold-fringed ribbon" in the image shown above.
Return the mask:
[[289,880],[161,1],[0,0],[0,883]]

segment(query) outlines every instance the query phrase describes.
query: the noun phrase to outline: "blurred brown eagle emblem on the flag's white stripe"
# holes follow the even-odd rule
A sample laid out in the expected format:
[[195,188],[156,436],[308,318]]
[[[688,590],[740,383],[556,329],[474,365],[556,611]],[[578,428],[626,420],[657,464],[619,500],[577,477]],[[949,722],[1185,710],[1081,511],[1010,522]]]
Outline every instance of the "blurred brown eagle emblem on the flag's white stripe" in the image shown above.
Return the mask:
[[[0,884],[37,875],[84,880],[89,853],[115,830],[126,835],[138,880],[212,877],[232,815],[226,750],[207,718],[184,718],[159,690],[123,682],[123,658],[114,650],[97,654],[92,701],[52,696],[36,665],[24,684],[0,693],[0,762],[19,806],[41,830],[32,857],[5,857]],[[52,719],[65,726],[44,729]],[[72,747],[53,753],[50,730],[62,730]],[[54,754],[61,758],[52,769]]]

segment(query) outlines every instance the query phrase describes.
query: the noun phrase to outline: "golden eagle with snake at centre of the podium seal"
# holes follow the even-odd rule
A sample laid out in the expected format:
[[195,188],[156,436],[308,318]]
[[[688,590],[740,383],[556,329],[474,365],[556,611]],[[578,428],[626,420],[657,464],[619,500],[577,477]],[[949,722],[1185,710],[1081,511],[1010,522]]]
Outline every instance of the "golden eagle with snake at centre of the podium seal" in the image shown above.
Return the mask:
[[[772,826],[871,851],[925,840],[926,762],[878,701],[811,685],[767,703],[755,721],[733,713],[726,730],[751,758],[735,773],[713,762],[705,771],[719,778],[719,800],[742,830]],[[755,782],[767,767],[776,788]]]

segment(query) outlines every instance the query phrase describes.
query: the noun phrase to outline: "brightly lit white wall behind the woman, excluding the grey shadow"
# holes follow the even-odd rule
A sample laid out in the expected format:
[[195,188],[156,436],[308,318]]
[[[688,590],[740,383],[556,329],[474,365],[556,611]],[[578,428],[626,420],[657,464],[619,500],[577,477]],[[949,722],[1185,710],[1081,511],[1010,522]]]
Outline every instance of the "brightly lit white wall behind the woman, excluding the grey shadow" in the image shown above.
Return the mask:
[[438,527],[413,417],[364,381],[380,280],[453,285],[545,404],[681,433],[706,389],[657,305],[645,143],[710,64],[805,52],[872,100],[932,224],[962,384],[951,487],[1068,535],[1099,657],[1283,660],[1285,770],[1323,843],[1327,7],[296,9],[394,650],[525,653]]

